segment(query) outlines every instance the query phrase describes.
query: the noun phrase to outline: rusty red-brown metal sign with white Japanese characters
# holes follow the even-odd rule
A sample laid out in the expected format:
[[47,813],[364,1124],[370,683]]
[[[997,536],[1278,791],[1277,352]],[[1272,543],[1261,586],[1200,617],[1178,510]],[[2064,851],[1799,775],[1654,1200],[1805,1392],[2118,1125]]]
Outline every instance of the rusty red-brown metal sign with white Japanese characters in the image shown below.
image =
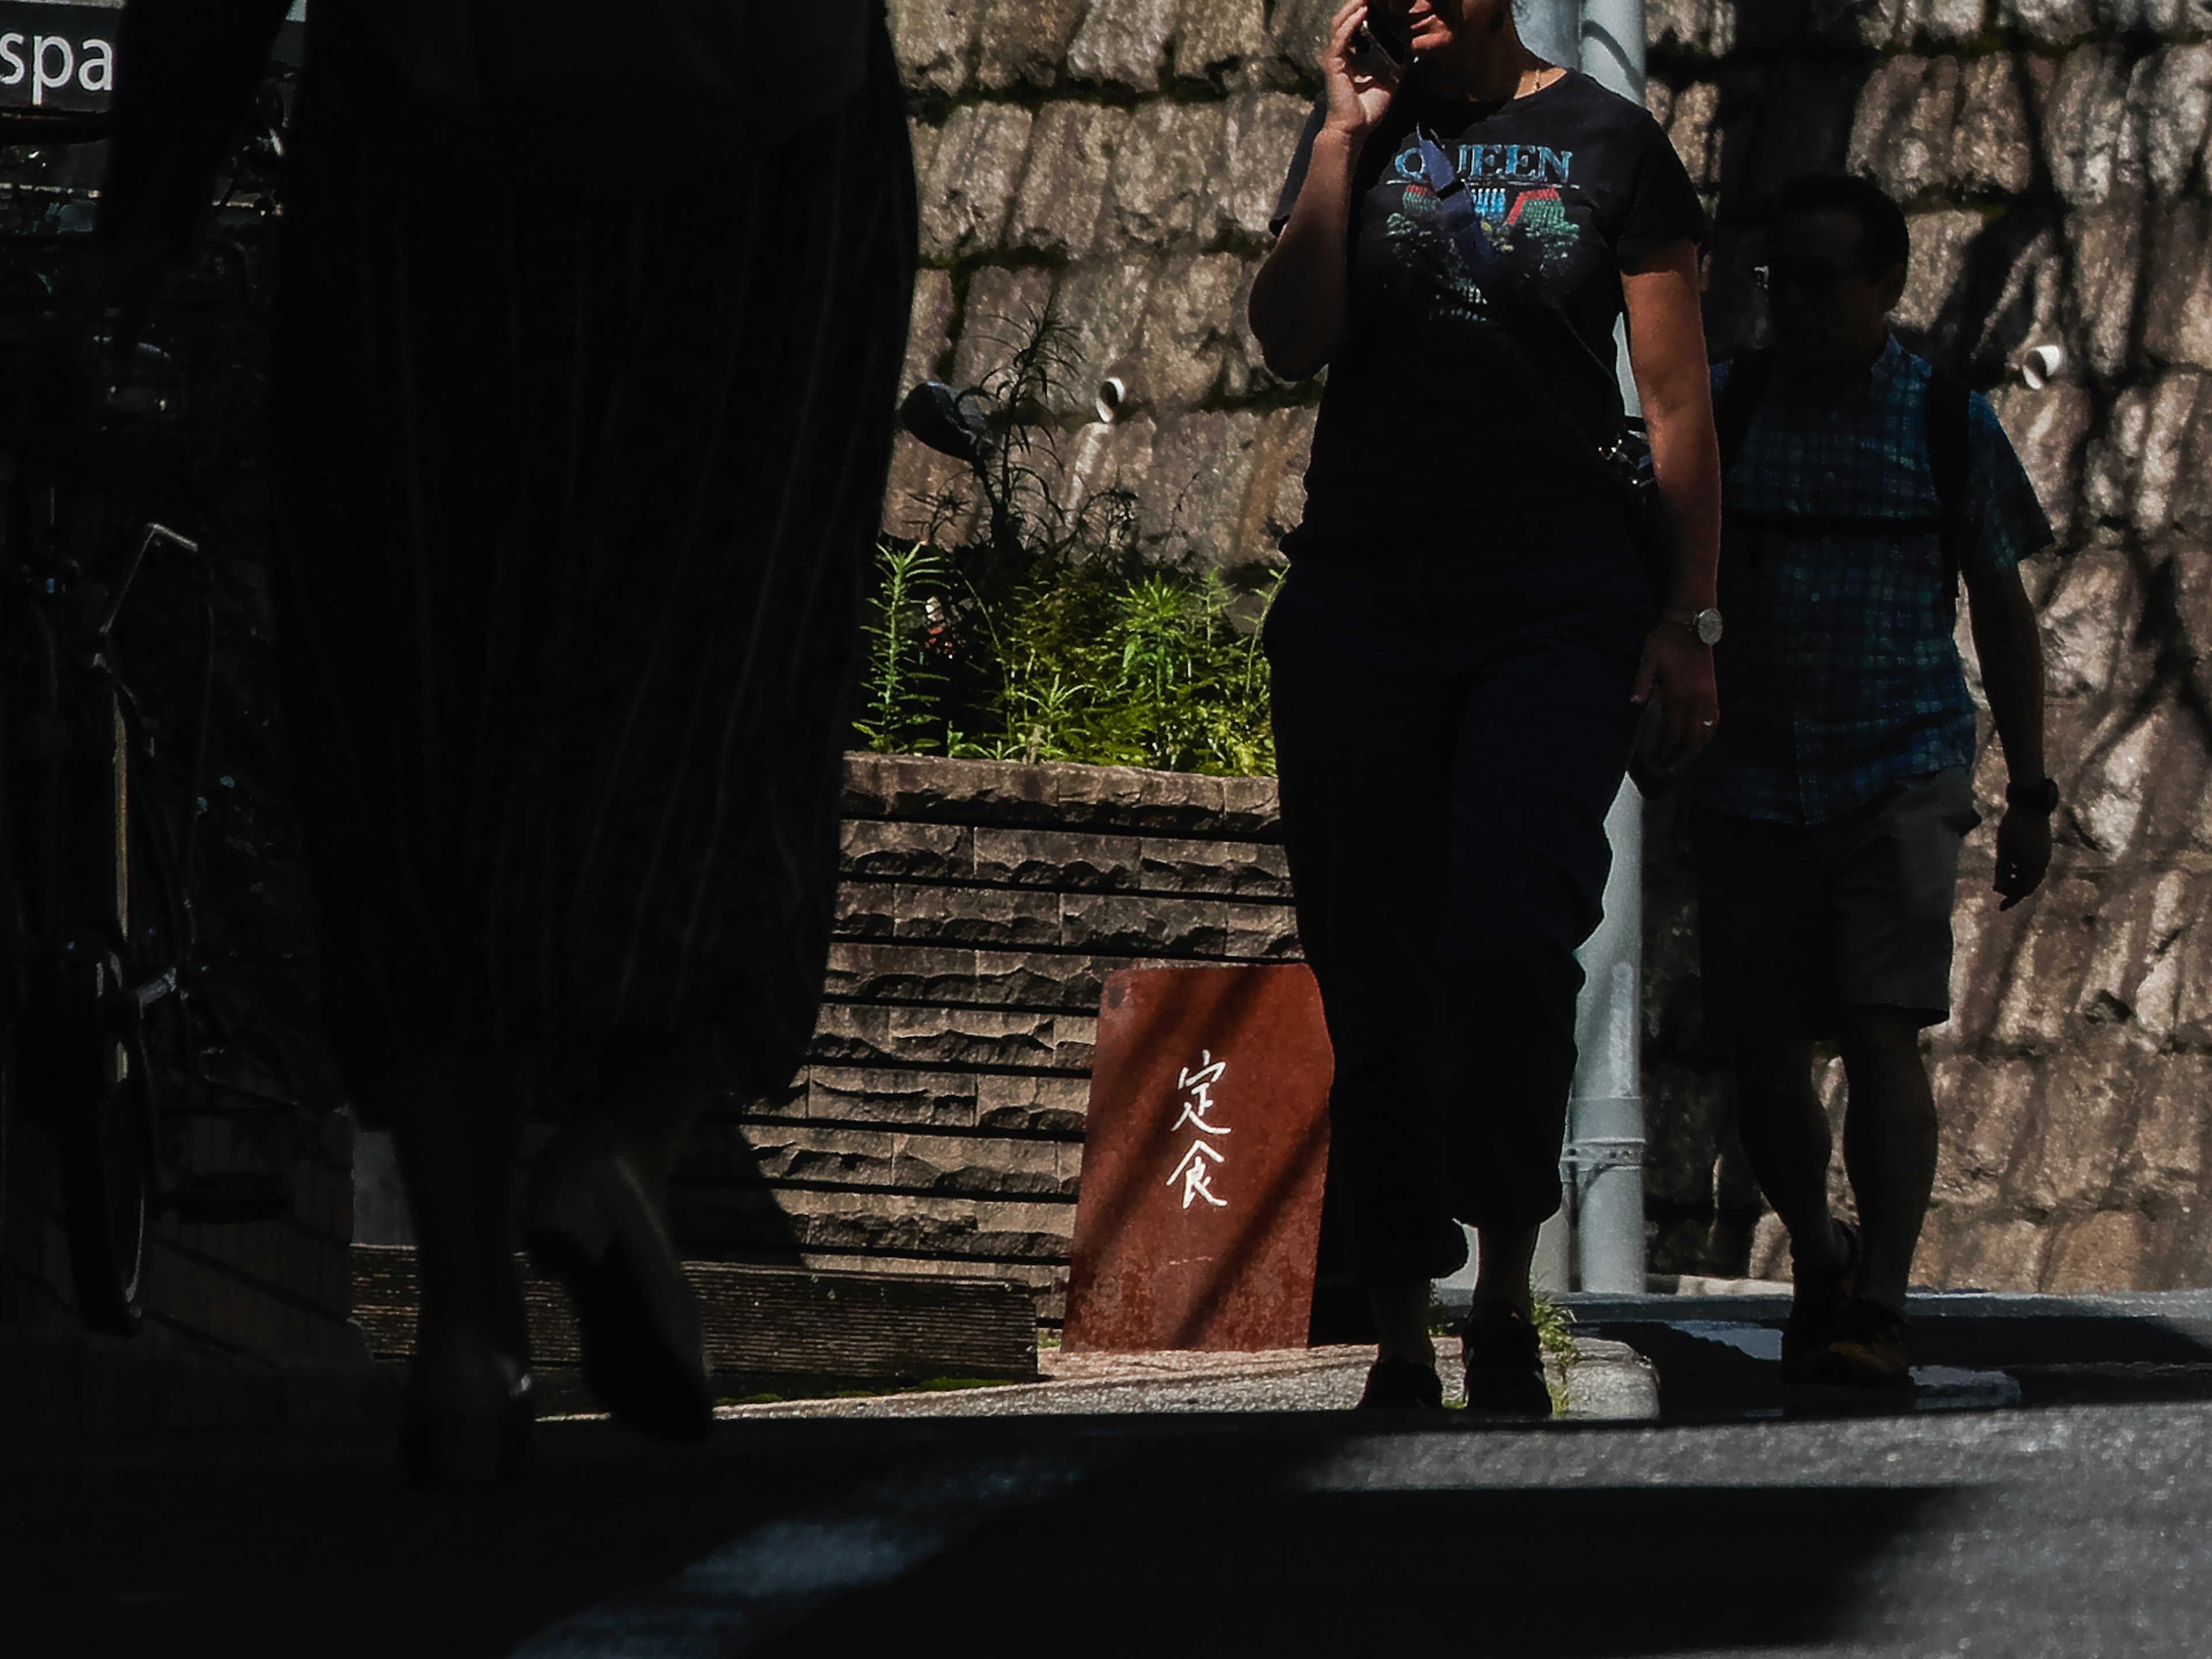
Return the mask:
[[1305,1347],[1329,1073],[1305,964],[1106,980],[1066,1347]]

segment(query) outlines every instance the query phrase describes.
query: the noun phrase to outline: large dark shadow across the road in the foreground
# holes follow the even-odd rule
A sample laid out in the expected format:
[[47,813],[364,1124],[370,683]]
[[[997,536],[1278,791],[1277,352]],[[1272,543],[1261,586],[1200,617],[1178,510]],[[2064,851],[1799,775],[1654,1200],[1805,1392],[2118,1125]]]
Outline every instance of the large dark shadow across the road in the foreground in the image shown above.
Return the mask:
[[[564,1425],[535,1484],[462,1495],[367,1440],[73,1453],[0,1471],[0,1650],[1807,1648],[1953,1493],[1436,1489],[1427,1444],[1345,1413],[754,1422],[699,1451]],[[1343,1473],[1378,1451],[1413,1489]]]

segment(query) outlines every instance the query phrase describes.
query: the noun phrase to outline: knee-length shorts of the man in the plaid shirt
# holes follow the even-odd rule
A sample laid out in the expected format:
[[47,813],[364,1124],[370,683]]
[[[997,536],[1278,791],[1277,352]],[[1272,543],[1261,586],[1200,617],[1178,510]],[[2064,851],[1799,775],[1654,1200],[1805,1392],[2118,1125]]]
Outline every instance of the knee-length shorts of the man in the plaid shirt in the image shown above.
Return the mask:
[[1958,852],[1973,772],[1909,779],[1827,823],[1697,814],[1705,1031],[1834,1037],[1836,1011],[1951,1018]]

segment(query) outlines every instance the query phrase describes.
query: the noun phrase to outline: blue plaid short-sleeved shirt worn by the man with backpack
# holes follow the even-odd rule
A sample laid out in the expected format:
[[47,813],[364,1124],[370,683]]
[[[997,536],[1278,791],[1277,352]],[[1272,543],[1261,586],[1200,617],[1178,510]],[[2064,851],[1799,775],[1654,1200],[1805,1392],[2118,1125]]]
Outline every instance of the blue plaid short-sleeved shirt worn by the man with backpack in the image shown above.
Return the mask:
[[[1714,394],[1728,365],[1712,372]],[[1896,338],[1843,403],[1790,396],[1781,374],[1725,478],[1730,513],[1933,520],[1929,365]],[[2051,546],[2051,522],[1989,403],[1969,405],[1966,577]],[[1973,699],[1944,593],[1942,538],[1732,531],[1721,575],[1721,726],[1697,765],[1717,812],[1823,823],[1891,783],[1971,765]],[[1745,575],[1750,580],[1745,580]]]

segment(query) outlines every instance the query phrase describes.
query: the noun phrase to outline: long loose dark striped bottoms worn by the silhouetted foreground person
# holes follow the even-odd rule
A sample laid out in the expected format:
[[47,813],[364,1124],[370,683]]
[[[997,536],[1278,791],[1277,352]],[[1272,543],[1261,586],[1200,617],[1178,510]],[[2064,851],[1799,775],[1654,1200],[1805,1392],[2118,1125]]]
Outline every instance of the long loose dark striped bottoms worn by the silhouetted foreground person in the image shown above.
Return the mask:
[[703,1051],[779,1086],[914,276],[887,42],[748,164],[303,102],[279,615],[341,1064]]

